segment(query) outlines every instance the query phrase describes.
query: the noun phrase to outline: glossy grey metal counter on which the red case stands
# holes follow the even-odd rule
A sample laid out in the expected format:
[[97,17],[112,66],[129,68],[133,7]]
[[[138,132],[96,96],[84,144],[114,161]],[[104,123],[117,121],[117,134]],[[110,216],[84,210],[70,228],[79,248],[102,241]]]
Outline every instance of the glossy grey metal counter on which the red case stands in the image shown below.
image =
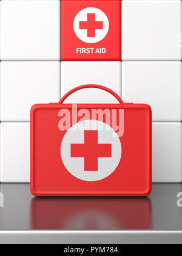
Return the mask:
[[[0,191],[1,238],[8,230],[9,234],[16,230],[16,236],[19,230],[37,234],[55,230],[75,238],[89,230],[113,233],[111,237],[125,233],[124,238],[137,232],[182,233],[182,184],[153,184],[152,194],[144,198],[39,198],[30,194],[29,184],[1,184]],[[182,243],[182,235],[180,239]]]

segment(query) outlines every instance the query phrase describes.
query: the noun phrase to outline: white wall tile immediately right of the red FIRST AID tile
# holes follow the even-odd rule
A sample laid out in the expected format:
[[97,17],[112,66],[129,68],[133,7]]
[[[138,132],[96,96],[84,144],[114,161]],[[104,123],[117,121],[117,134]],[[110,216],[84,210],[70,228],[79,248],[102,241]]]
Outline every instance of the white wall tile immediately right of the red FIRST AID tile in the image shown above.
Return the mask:
[[123,1],[122,59],[181,60],[181,1]]

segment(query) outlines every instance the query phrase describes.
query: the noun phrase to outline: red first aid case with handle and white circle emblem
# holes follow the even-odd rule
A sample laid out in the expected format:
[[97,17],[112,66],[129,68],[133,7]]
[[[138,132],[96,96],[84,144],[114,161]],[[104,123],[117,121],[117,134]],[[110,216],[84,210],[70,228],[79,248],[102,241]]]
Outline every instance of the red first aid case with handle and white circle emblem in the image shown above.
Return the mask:
[[[98,88],[118,104],[64,104]],[[152,113],[109,88],[82,85],[30,113],[30,187],[35,196],[147,196],[152,188]]]

